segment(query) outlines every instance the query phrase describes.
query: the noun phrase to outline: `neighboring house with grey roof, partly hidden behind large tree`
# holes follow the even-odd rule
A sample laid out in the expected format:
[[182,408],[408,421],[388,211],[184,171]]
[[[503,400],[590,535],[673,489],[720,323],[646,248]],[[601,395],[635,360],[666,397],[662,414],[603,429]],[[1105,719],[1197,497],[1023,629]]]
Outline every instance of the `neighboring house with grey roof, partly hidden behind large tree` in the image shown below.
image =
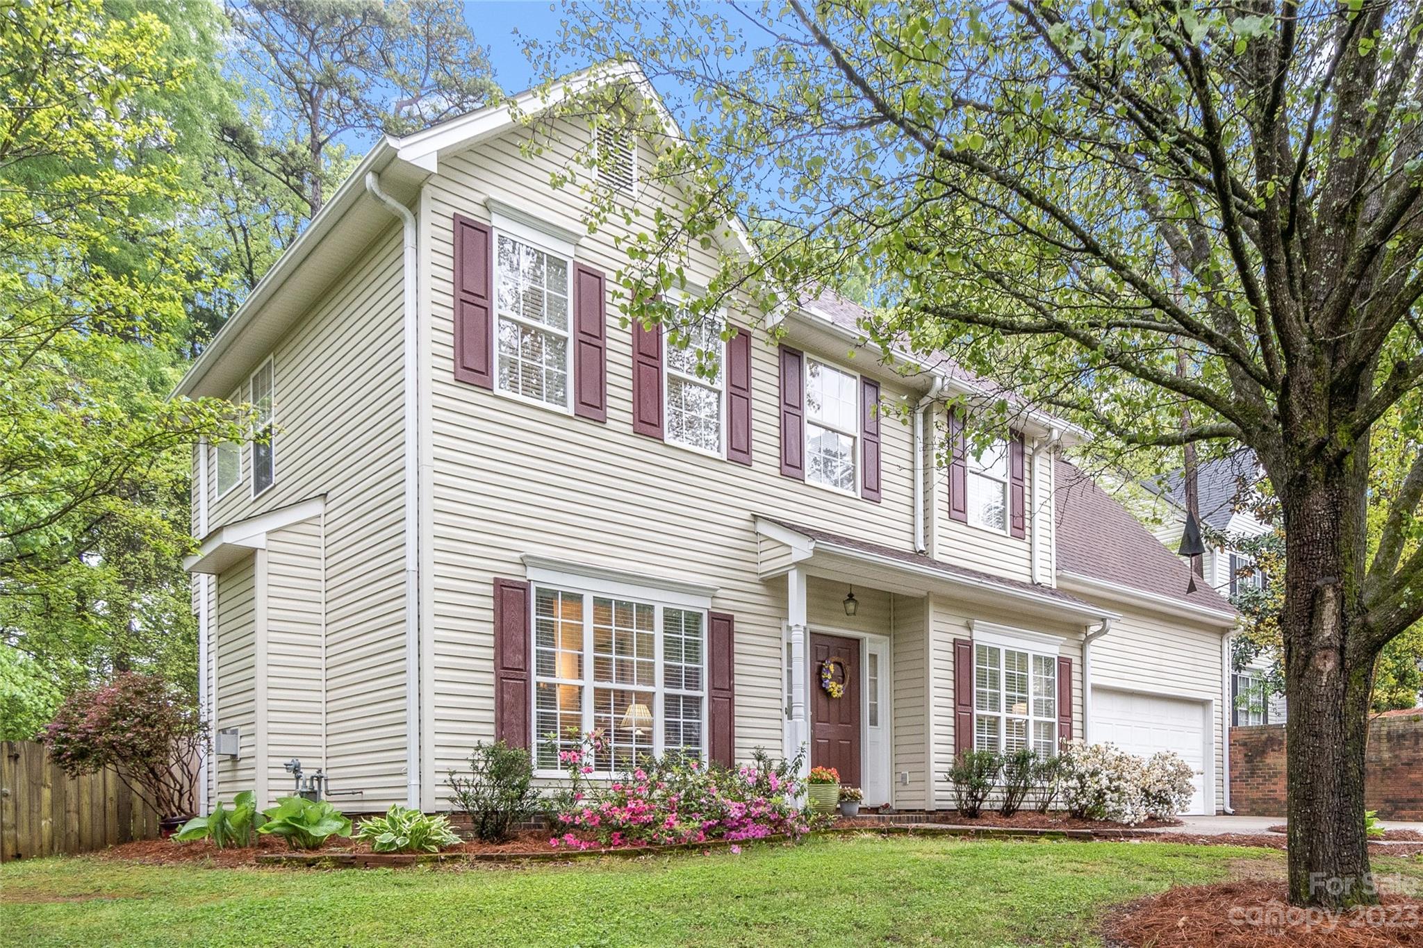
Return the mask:
[[[1254,560],[1232,546],[1239,539],[1271,532],[1271,526],[1251,513],[1245,503],[1264,478],[1255,453],[1248,449],[1201,462],[1197,468],[1197,506],[1205,539],[1201,573],[1215,591],[1229,600],[1244,587],[1259,587],[1265,581],[1264,574],[1252,569]],[[1183,472],[1175,470],[1160,483],[1144,482],[1143,486],[1151,495],[1144,519],[1153,524],[1161,543],[1171,550],[1180,549],[1185,529]],[[1231,723],[1284,723],[1285,696],[1266,684],[1272,661],[1272,654],[1261,654],[1247,668],[1232,672]]]

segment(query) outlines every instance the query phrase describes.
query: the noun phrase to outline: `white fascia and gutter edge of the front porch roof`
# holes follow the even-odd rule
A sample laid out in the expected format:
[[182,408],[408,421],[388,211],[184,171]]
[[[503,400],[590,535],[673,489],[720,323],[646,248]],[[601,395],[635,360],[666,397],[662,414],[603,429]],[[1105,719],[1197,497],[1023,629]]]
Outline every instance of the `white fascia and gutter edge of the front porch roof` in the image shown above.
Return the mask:
[[1009,600],[1019,608],[1032,613],[1059,618],[1070,615],[1089,623],[1117,618],[1117,613],[1086,603],[1054,587],[1020,583],[953,566],[919,553],[908,553],[774,517],[757,516],[756,532],[761,543],[761,578],[801,569],[810,576],[872,586],[901,596],[939,593],[985,603]]

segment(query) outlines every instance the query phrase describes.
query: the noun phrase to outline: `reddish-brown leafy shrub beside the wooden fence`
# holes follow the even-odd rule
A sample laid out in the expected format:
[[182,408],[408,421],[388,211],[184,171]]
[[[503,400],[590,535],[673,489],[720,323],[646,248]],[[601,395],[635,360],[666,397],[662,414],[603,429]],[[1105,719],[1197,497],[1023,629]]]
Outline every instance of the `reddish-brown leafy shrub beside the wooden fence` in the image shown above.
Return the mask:
[[108,767],[165,820],[195,814],[206,738],[208,726],[179,688],[137,672],[73,694],[38,735],[65,773]]

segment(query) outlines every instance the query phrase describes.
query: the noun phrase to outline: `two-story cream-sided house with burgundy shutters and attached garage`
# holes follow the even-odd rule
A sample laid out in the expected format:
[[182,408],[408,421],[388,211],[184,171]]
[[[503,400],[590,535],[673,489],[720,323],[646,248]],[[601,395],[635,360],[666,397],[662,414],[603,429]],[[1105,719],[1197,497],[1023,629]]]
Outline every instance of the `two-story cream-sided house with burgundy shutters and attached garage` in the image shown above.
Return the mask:
[[[179,384],[275,432],[195,460],[209,800],[279,796],[296,758],[351,810],[434,810],[478,740],[551,776],[546,735],[601,728],[599,772],[807,746],[915,810],[952,806],[959,750],[1110,738],[1178,750],[1194,809],[1224,804],[1234,613],[1069,476],[1080,431],[1025,409],[972,456],[945,399],[973,379],[885,364],[831,297],[731,308],[696,374],[623,324],[628,232],[588,233],[549,185],[568,149],[528,136],[501,105],[383,139]],[[655,138],[603,146],[591,186],[676,210],[638,175]],[[692,284],[750,252],[724,237]]]

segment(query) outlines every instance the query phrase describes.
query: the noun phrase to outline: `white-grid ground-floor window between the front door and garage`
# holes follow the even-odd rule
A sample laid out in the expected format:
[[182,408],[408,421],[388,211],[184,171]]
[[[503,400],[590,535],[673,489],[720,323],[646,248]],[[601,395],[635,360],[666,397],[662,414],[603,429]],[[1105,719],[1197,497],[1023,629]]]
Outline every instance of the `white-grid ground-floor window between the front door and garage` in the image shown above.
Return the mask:
[[1057,753],[1057,657],[973,642],[973,749]]

